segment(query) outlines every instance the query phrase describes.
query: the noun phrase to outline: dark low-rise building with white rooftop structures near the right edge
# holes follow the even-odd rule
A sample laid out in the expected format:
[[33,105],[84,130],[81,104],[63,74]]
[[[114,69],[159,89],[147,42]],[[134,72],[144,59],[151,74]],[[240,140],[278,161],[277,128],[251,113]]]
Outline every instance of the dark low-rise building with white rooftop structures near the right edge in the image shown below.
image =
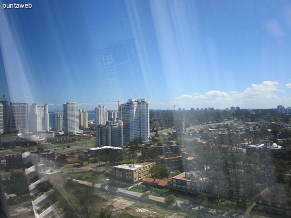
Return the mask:
[[289,161],[291,152],[285,150],[282,146],[275,144],[273,141],[263,141],[264,143],[249,145],[245,148],[245,154],[251,156],[258,153],[260,158],[283,159]]

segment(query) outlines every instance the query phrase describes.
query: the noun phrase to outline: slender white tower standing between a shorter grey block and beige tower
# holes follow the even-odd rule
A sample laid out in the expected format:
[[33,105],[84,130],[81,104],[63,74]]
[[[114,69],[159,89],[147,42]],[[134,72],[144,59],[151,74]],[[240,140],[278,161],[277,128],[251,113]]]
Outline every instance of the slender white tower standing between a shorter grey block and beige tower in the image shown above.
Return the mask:
[[66,135],[79,135],[79,105],[76,102],[66,102],[63,104],[63,122]]

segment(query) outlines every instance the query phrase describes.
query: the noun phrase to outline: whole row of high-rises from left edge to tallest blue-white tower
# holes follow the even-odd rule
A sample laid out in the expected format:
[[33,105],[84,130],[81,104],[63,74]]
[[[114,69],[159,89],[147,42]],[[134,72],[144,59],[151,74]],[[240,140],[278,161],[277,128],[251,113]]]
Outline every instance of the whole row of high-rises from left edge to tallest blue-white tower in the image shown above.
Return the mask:
[[[5,95],[0,100],[0,134],[49,131],[47,104],[33,103],[29,108],[28,103],[9,102]],[[80,128],[88,127],[88,113],[80,110],[76,102],[66,102],[62,112],[53,114],[52,123],[54,131],[79,135]],[[107,111],[105,105],[99,105],[95,109],[95,125],[97,147],[122,147],[139,137],[146,141],[149,139],[149,103],[146,99],[130,98],[119,105],[118,111]],[[183,124],[181,128],[184,129]]]

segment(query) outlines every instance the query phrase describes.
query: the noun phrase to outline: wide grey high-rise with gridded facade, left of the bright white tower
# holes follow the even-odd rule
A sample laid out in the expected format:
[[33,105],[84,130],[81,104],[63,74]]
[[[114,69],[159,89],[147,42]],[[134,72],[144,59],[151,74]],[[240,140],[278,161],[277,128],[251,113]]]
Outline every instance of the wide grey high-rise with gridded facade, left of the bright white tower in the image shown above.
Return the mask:
[[28,132],[28,103],[11,103],[11,132]]

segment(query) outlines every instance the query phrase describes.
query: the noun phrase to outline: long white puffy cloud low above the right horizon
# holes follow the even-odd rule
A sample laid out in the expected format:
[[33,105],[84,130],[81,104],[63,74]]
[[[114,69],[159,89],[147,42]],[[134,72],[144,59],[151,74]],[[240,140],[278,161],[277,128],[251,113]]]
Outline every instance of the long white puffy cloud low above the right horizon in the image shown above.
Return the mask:
[[238,105],[242,108],[268,108],[275,107],[275,102],[280,102],[282,98],[276,92],[284,92],[278,89],[279,83],[276,81],[264,81],[260,84],[252,84],[243,92],[231,91],[229,93],[219,90],[212,90],[205,94],[189,95],[183,94],[176,97],[183,107],[215,107],[226,108],[231,105]]

